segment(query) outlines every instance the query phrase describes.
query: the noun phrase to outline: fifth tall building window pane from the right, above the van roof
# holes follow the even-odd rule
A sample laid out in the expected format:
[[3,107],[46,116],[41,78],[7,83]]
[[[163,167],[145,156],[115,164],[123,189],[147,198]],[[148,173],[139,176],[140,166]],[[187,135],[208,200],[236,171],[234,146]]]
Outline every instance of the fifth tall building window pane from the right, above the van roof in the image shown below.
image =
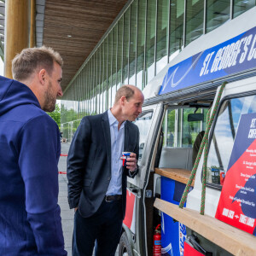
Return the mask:
[[157,7],[156,73],[167,64],[167,28],[169,2],[159,0]]

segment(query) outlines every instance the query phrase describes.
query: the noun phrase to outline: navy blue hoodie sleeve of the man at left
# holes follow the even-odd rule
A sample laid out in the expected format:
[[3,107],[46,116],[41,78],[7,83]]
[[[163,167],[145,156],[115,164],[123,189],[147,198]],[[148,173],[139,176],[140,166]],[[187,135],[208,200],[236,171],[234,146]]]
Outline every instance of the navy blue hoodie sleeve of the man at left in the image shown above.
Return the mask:
[[38,254],[67,255],[58,206],[59,129],[46,114],[30,119],[20,131],[19,166],[26,190],[27,219]]

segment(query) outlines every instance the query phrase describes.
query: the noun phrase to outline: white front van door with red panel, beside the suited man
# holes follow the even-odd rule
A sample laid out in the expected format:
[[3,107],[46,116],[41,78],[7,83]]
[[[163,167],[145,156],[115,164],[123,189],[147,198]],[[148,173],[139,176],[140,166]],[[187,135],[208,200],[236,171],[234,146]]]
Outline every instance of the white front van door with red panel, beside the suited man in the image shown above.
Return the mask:
[[143,238],[144,215],[146,214],[144,207],[144,197],[146,192],[144,191],[144,188],[149,172],[148,162],[150,161],[152,148],[154,148],[153,145],[156,140],[156,131],[159,129],[162,113],[163,103],[146,106],[143,107],[143,112],[135,121],[135,124],[140,131],[138,157],[139,172],[136,177],[127,178],[126,215],[123,224],[123,228],[134,255],[147,255],[147,251],[145,251],[147,249]]

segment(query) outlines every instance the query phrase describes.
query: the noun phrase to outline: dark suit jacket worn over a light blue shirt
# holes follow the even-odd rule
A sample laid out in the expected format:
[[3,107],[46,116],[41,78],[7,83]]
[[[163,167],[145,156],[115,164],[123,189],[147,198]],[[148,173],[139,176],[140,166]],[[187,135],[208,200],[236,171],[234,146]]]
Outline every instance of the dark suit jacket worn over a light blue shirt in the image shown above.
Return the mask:
[[[130,121],[125,123],[124,151],[139,153],[139,131]],[[134,177],[137,172],[132,173]],[[125,218],[126,177],[123,167],[122,195]],[[67,157],[68,202],[79,207],[83,217],[90,217],[102,204],[111,179],[111,137],[108,111],[81,120]]]

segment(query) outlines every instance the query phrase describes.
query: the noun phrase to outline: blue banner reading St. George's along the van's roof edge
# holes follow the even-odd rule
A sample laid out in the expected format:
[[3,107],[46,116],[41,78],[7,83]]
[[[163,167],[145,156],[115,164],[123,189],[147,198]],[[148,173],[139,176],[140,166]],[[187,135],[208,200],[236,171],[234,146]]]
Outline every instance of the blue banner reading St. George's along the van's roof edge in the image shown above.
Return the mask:
[[170,67],[159,95],[256,68],[256,26]]

